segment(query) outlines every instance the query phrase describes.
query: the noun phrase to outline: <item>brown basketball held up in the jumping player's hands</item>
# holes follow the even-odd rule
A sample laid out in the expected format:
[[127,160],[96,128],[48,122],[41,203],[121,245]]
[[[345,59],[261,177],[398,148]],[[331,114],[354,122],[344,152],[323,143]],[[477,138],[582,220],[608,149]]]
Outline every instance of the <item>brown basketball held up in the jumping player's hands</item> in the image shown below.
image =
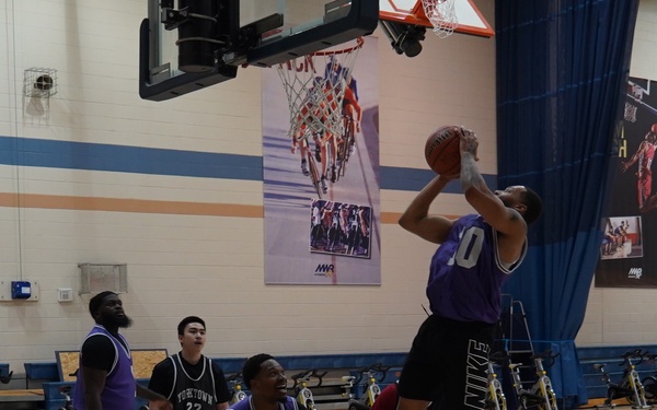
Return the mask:
[[461,127],[443,126],[427,138],[425,159],[439,175],[456,175],[461,172]]

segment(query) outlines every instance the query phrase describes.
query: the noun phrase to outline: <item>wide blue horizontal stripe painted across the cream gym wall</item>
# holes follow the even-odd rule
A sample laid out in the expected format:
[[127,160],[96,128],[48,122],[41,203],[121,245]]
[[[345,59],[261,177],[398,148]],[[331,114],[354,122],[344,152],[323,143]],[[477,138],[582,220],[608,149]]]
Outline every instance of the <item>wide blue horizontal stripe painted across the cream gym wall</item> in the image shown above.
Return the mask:
[[[0,137],[0,164],[66,169],[263,180],[262,156]],[[420,190],[429,169],[381,166],[381,189]],[[489,187],[494,175],[484,175]],[[459,194],[458,181],[446,192]]]

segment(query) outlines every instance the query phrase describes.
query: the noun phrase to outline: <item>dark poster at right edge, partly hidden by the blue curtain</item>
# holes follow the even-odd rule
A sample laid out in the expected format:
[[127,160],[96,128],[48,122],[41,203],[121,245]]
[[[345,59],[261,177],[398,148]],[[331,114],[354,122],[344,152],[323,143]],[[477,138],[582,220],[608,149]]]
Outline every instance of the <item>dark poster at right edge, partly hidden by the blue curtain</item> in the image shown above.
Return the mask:
[[630,78],[609,214],[596,269],[598,288],[657,288],[657,81]]

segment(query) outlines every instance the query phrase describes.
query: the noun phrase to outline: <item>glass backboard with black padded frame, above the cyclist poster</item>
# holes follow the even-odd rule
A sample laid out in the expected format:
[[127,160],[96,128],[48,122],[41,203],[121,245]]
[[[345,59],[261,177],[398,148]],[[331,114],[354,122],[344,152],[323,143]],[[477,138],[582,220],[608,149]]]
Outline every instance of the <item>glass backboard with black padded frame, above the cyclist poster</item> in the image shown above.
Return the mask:
[[154,101],[371,34],[379,17],[372,0],[148,1],[139,92]]

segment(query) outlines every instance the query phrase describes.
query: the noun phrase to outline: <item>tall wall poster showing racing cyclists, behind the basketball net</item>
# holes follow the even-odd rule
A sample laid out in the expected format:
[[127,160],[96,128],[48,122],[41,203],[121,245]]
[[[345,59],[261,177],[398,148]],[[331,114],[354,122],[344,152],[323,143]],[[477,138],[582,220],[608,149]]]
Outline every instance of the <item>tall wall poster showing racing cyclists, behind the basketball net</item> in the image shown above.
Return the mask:
[[377,49],[263,70],[267,284],[381,283]]

